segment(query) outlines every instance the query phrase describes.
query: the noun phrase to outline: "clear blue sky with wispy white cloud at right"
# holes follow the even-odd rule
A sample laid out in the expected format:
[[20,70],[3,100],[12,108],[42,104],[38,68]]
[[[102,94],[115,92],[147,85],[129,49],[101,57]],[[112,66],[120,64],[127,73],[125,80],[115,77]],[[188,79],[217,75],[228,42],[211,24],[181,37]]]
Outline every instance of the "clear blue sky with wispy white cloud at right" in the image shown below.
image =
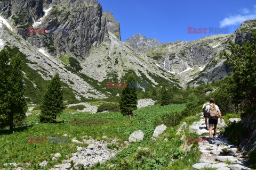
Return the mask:
[[[163,43],[191,41],[219,33],[209,27],[226,28],[232,33],[245,20],[256,19],[256,1],[167,1],[98,0],[103,11],[113,11],[121,24],[121,40],[141,33]],[[187,33],[188,27],[207,28],[207,33]],[[192,30],[193,32],[193,30]]]

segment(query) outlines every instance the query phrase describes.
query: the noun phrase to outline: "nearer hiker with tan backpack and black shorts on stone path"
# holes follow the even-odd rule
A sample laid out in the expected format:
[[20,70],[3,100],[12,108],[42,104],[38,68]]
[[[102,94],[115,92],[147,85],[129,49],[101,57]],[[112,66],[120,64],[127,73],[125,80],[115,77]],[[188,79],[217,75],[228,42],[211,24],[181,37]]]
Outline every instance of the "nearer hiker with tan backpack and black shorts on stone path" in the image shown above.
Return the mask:
[[204,114],[206,114],[207,112],[210,113],[210,117],[209,117],[210,142],[209,143],[212,143],[212,128],[213,128],[213,125],[214,125],[213,137],[215,137],[216,131],[217,131],[218,118],[220,116],[220,123],[221,123],[222,122],[222,116],[221,116],[221,112],[220,112],[219,107],[214,104],[214,99],[213,98],[210,99],[210,103],[211,103],[210,105],[206,106]]

